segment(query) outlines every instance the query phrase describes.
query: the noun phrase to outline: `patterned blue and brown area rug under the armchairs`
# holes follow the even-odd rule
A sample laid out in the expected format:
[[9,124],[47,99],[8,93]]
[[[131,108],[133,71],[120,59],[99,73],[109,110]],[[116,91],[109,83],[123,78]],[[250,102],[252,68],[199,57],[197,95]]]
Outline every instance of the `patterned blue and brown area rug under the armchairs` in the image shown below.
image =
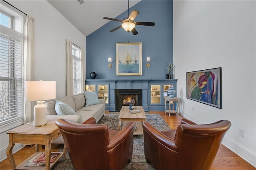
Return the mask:
[[[118,114],[105,114],[104,117],[100,119],[98,124],[106,124],[109,128],[118,130],[118,116]],[[157,130],[170,130],[170,127],[159,114],[146,114],[146,117],[146,122],[150,123]],[[63,148],[60,150],[60,152],[62,150]],[[64,156],[62,156],[62,158],[60,158],[60,160],[58,160],[58,162],[51,169],[73,170],[73,166],[69,156],[68,160],[65,160]],[[134,136],[132,161],[129,164],[126,164],[124,170],[155,170],[151,164],[146,163],[144,157],[144,140],[142,135]]]

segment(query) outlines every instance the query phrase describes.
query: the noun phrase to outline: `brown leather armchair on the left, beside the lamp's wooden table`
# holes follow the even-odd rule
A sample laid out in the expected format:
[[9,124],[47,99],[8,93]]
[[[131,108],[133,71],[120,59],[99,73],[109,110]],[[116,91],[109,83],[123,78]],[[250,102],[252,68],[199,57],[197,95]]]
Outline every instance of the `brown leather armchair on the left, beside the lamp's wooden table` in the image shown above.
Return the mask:
[[82,124],[58,119],[74,170],[122,170],[132,159],[134,123],[121,131],[95,125],[90,118]]

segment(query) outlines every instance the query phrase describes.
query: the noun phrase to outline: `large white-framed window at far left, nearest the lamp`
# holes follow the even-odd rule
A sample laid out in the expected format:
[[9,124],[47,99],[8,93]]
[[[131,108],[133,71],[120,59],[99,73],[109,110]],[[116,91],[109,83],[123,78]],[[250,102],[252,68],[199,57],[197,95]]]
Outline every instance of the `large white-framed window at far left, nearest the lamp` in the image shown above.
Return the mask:
[[0,127],[1,132],[23,124],[24,14],[1,1],[0,11]]

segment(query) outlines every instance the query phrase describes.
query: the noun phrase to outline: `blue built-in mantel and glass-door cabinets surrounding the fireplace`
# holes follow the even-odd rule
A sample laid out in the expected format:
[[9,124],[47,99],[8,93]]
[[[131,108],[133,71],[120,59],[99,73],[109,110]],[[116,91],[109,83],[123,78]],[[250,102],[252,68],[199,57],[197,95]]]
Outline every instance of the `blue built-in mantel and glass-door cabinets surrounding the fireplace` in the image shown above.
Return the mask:
[[143,109],[145,111],[164,111],[164,96],[168,96],[167,91],[169,85],[173,85],[176,90],[177,80],[178,79],[86,79],[85,89],[87,91],[96,91],[98,98],[105,99],[106,110],[110,112],[116,111],[116,89],[142,89]]

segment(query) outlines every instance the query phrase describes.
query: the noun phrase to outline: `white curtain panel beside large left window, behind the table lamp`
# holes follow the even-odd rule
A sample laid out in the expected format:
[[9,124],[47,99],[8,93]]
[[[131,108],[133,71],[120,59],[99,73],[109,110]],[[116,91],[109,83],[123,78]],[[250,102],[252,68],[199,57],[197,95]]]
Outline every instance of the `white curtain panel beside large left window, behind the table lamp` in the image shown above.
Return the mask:
[[[24,80],[34,81],[34,64],[35,64],[35,38],[34,38],[35,18],[26,16],[24,25]],[[33,107],[35,102],[24,102],[24,119],[25,123],[33,121]]]

